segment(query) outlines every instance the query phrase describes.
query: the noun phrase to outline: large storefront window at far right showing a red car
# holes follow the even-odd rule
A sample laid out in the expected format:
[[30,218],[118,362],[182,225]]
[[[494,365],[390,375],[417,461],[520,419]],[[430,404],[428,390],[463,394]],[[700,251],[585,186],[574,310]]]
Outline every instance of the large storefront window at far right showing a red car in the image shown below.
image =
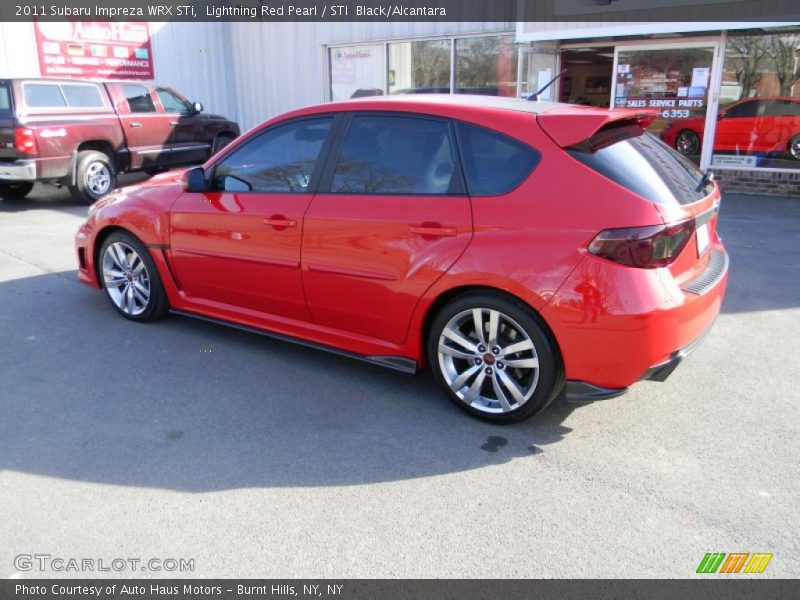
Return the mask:
[[729,34],[712,167],[800,168],[800,33]]

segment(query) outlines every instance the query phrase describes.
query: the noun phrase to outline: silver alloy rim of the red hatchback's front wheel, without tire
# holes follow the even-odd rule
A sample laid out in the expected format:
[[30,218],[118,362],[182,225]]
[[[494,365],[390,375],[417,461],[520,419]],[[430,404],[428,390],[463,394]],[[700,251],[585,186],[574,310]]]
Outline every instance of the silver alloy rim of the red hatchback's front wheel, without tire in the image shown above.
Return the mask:
[[150,276],[142,257],[123,242],[103,254],[103,281],[114,305],[125,314],[142,314],[150,302]]

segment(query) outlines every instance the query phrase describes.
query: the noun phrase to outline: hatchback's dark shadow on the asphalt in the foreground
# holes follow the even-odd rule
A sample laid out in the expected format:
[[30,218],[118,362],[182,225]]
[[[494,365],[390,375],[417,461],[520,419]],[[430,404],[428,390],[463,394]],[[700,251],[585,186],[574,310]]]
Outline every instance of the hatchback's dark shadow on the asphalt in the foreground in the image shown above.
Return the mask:
[[73,273],[0,283],[0,469],[206,492],[342,486],[541,460],[575,405],[497,426],[428,375],[172,317],[117,315]]

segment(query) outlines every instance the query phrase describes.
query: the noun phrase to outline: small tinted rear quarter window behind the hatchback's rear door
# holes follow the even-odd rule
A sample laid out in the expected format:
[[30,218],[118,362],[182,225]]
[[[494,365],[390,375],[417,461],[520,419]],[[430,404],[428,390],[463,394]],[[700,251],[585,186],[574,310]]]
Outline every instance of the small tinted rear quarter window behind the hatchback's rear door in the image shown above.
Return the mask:
[[507,194],[539,162],[538,151],[502,133],[462,122],[456,127],[470,196]]

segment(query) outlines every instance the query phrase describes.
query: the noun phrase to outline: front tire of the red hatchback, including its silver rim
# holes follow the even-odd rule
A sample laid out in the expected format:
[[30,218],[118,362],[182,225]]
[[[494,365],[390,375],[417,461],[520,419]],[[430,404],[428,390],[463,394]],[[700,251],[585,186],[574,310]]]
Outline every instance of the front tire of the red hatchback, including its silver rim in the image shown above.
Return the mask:
[[167,294],[145,245],[130,233],[109,235],[97,257],[98,279],[126,319],[155,321],[169,311]]

